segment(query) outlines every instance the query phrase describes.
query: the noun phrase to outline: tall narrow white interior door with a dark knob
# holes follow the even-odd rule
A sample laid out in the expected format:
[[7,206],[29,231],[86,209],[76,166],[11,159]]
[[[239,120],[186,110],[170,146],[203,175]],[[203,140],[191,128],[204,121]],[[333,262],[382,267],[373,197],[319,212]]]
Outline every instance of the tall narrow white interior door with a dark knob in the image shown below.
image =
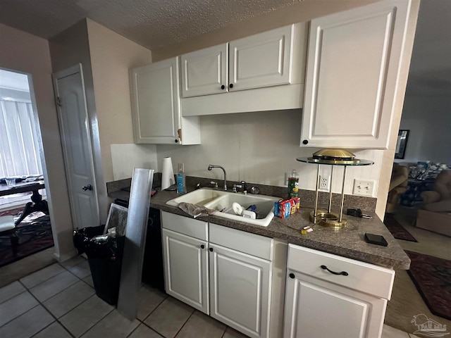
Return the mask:
[[82,65],[53,75],[74,230],[100,224]]

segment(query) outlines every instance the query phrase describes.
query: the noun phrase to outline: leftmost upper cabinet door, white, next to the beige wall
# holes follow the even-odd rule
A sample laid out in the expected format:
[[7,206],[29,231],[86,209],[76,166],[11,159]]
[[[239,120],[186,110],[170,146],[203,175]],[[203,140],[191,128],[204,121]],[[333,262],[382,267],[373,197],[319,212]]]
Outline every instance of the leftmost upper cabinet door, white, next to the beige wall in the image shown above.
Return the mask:
[[135,143],[179,142],[178,57],[130,70]]

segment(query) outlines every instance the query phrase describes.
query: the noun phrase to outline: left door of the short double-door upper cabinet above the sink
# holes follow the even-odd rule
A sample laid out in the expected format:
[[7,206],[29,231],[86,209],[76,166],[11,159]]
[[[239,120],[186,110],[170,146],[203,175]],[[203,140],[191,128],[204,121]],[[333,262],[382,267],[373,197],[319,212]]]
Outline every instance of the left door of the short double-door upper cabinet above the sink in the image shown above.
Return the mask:
[[220,44],[181,56],[183,97],[227,92],[227,49]]

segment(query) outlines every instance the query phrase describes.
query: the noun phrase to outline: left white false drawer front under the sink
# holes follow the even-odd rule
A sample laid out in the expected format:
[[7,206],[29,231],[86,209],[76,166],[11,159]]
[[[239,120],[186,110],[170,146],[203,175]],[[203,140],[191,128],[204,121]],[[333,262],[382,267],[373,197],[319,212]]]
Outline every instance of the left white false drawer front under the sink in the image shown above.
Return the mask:
[[208,241],[209,238],[208,224],[207,222],[202,222],[202,220],[193,220],[192,218],[161,211],[161,226],[163,228],[204,241]]

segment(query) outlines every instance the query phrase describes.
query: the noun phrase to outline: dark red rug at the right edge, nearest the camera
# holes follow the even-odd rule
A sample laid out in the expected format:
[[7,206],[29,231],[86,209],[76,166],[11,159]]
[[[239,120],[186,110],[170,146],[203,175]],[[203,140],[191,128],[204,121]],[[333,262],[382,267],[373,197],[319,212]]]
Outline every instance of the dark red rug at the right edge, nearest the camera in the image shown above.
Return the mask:
[[431,313],[451,320],[451,261],[413,251],[406,253],[412,261],[407,273]]

